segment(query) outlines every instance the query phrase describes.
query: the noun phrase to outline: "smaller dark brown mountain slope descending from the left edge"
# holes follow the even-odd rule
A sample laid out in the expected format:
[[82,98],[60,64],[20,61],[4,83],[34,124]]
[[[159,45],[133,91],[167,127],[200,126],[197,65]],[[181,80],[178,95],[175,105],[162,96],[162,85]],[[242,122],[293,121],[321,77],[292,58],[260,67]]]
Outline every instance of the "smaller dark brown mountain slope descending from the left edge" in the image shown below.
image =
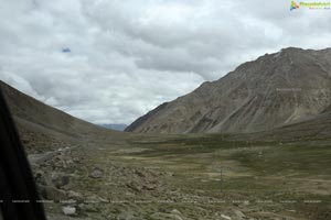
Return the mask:
[[86,139],[122,135],[122,132],[97,127],[44,105],[1,80],[0,87],[30,152],[64,147],[68,142],[79,144]]

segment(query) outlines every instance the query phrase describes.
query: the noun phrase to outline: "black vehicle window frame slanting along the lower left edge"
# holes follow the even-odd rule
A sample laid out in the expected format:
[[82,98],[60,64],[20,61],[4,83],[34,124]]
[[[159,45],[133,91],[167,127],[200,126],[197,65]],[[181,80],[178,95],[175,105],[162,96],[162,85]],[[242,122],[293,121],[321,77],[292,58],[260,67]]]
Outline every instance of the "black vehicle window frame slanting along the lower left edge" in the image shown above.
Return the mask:
[[[4,220],[45,220],[19,132],[0,88],[0,207]],[[1,213],[0,213],[1,219]]]

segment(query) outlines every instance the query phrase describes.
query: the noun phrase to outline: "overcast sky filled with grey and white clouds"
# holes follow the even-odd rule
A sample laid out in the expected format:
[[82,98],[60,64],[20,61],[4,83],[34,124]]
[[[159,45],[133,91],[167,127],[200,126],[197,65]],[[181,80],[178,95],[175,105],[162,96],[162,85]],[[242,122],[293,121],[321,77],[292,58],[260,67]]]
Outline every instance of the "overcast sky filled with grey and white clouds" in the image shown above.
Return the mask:
[[129,124],[266,53],[331,46],[331,10],[290,0],[0,3],[0,79],[93,123]]

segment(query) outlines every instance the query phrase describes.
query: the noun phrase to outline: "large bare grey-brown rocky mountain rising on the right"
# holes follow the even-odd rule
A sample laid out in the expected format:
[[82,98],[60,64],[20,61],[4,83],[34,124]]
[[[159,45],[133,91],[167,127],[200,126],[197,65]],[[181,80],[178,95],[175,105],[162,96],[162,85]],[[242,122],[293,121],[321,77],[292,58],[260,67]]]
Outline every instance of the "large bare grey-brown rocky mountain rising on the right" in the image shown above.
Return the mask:
[[331,48],[289,47],[163,103],[130,124],[138,133],[247,133],[292,124],[331,105]]

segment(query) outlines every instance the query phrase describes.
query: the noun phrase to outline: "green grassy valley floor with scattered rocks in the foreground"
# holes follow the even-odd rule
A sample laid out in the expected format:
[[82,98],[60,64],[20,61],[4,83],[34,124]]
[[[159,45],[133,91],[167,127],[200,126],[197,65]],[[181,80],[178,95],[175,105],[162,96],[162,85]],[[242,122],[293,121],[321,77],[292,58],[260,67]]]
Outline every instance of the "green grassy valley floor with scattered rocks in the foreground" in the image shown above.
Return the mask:
[[32,166],[50,219],[331,219],[330,140],[94,140]]

